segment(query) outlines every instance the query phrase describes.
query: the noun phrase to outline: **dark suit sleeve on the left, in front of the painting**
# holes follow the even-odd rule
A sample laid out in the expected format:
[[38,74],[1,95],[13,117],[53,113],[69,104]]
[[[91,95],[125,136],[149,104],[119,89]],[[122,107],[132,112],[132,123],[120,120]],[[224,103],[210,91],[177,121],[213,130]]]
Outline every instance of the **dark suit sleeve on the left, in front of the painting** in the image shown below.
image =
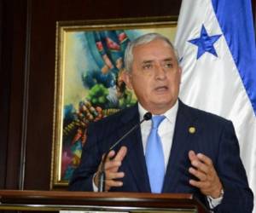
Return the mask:
[[83,147],[81,162],[69,181],[68,190],[70,191],[93,191],[92,178],[102,158],[94,126],[91,124],[87,130],[87,140]]

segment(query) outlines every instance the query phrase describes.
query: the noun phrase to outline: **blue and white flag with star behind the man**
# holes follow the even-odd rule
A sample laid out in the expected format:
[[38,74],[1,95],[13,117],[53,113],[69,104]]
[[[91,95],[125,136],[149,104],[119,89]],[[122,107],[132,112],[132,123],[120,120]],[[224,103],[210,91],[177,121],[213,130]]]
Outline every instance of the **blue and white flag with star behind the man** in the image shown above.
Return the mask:
[[183,68],[180,98],[233,122],[249,185],[256,194],[256,47],[251,0],[183,0],[175,46]]

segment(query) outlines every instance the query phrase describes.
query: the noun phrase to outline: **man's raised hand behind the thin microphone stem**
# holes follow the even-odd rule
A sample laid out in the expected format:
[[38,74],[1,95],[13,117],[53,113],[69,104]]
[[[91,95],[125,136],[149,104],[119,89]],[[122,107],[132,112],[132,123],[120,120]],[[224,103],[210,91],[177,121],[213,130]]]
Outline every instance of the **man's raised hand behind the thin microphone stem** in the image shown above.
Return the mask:
[[[118,172],[120,165],[122,164],[122,160],[125,158],[127,153],[127,147],[120,147],[119,152],[115,155],[115,152],[112,150],[108,153],[108,157],[105,163],[105,190],[108,191],[111,187],[121,187],[123,186],[122,181],[117,181],[115,179],[123,178],[125,176],[124,172]],[[113,158],[113,156],[115,156]],[[102,159],[104,155],[102,156]],[[94,178],[94,183],[96,187],[98,187],[99,173],[102,167],[102,163],[98,167],[98,171],[96,172],[96,176]]]

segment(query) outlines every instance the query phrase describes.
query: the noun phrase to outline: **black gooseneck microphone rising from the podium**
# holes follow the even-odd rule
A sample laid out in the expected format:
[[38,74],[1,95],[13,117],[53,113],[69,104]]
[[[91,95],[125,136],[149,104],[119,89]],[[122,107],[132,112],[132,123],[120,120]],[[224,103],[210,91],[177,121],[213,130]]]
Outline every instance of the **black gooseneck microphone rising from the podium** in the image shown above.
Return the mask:
[[126,136],[130,135],[131,132],[133,132],[134,130],[136,130],[144,121],[150,120],[152,118],[152,113],[151,112],[146,112],[143,116],[143,119],[136,124],[135,126],[133,126],[131,128],[131,130],[127,131],[125,133],[125,135],[121,136],[119,138],[118,141],[116,141],[109,149],[108,152],[105,153],[104,158],[102,159],[102,166],[101,166],[101,170],[100,170],[100,174],[99,174],[99,181],[98,181],[98,193],[102,193],[105,191],[105,180],[106,180],[106,174],[105,174],[105,163],[108,157],[108,153],[110,153],[111,150],[113,150],[114,147],[116,147],[117,145],[119,145],[119,143],[125,139]]

